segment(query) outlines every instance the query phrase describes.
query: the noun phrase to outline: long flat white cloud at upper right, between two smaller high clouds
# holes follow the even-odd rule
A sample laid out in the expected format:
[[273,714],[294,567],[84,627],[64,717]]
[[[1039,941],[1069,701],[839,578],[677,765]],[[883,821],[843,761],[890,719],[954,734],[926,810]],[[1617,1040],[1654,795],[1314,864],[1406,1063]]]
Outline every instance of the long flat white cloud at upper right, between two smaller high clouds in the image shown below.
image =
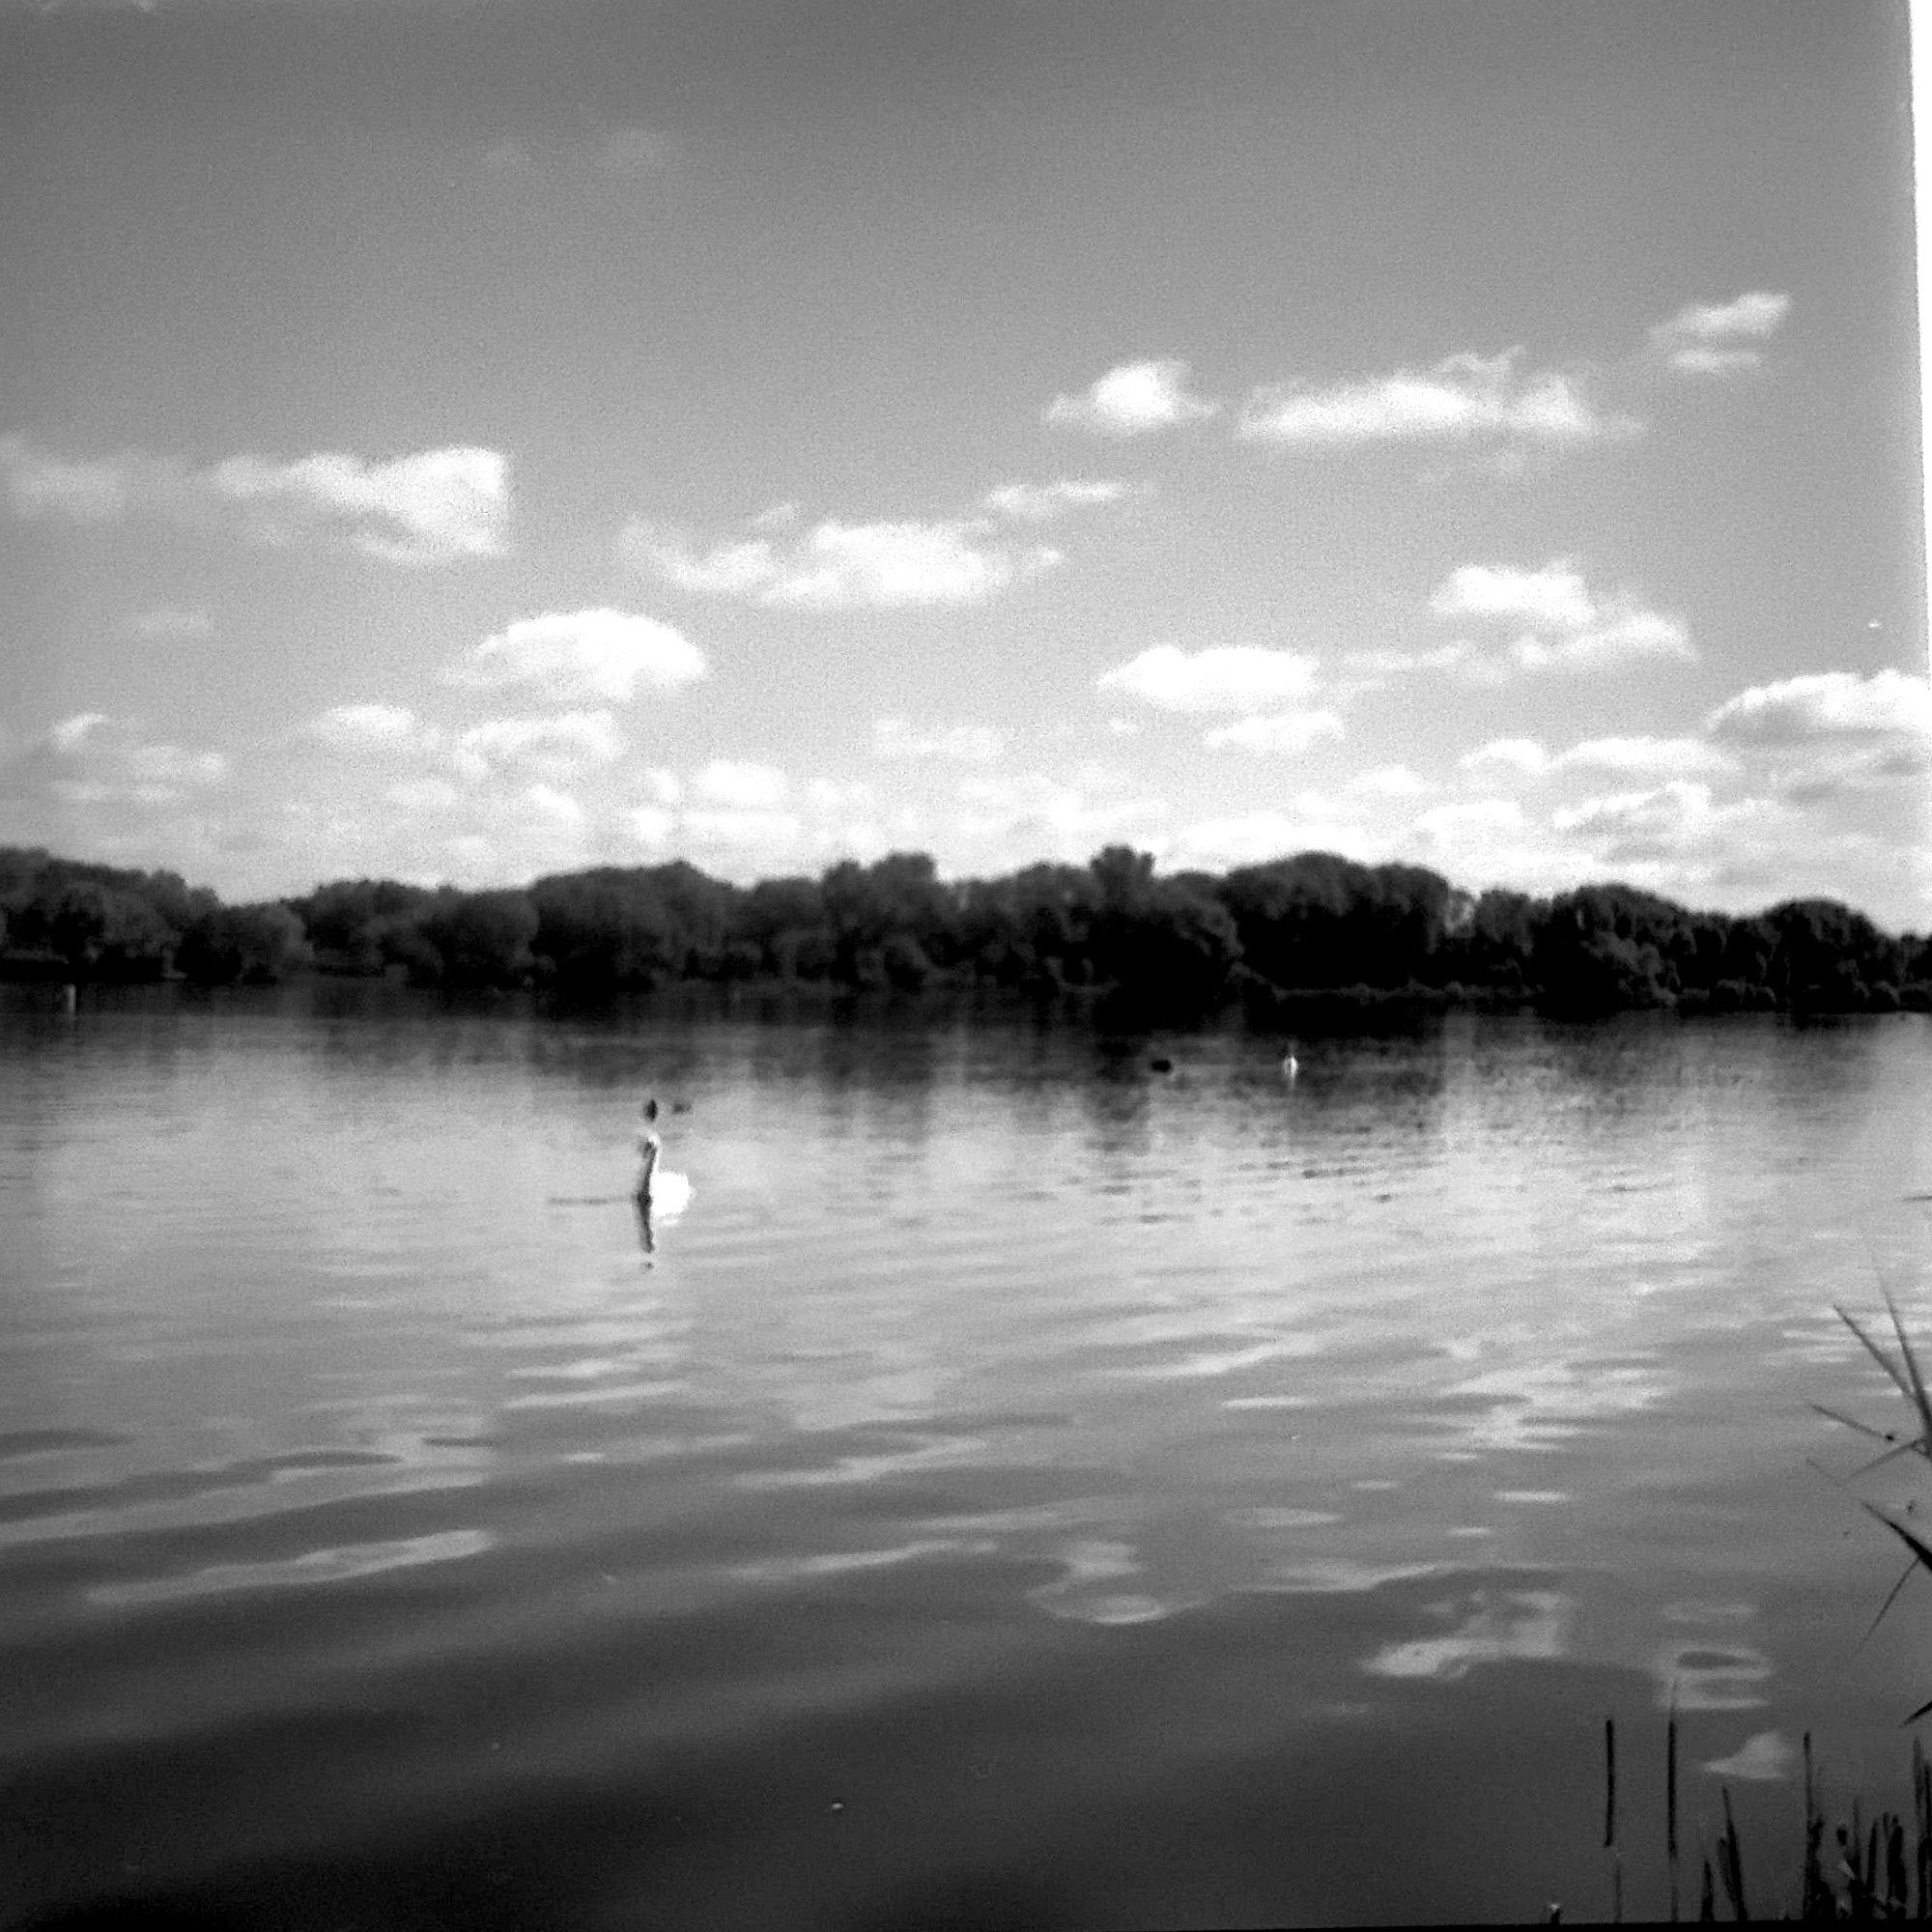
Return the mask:
[[1474,440],[1565,446],[1636,427],[1598,410],[1577,377],[1551,369],[1519,375],[1520,354],[1445,355],[1428,369],[1325,388],[1264,384],[1242,404],[1236,435],[1289,448]]

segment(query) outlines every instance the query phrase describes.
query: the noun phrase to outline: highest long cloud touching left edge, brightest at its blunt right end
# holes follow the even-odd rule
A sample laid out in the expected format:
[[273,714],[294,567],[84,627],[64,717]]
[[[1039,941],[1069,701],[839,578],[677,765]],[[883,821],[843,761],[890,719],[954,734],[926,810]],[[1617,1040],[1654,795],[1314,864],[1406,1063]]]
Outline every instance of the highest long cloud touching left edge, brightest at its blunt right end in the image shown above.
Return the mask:
[[292,462],[226,456],[207,469],[124,450],[68,460],[0,437],[0,481],[23,518],[104,524],[147,512],[232,524],[259,543],[342,541],[396,564],[495,556],[510,516],[510,466],[450,446],[367,462],[323,450]]

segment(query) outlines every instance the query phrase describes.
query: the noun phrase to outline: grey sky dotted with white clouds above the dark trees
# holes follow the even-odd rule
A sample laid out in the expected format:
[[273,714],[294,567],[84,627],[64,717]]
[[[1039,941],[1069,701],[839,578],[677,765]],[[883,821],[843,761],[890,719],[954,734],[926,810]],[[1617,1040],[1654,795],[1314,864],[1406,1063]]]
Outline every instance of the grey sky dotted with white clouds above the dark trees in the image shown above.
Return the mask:
[[1932,929],[1903,0],[0,0],[0,840]]

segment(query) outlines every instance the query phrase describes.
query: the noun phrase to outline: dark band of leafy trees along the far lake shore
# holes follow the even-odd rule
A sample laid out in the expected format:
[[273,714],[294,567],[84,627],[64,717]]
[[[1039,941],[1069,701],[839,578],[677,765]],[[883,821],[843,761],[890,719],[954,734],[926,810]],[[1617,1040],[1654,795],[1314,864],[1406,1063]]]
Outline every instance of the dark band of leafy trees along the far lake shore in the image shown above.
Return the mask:
[[1155,873],[1151,854],[1107,846],[1086,866],[960,881],[923,852],[895,852],[750,887],[678,860],[481,893],[336,879],[224,906],[172,871],[0,848],[12,978],[234,983],[311,970],[576,997],[676,981],[991,983],[1161,1014],[1233,1001],[1264,1016],[1310,1003],[1932,1010],[1932,939],[1884,933],[1837,900],[1731,916],[1629,885],[1470,895],[1422,866],[1333,852],[1215,875]]

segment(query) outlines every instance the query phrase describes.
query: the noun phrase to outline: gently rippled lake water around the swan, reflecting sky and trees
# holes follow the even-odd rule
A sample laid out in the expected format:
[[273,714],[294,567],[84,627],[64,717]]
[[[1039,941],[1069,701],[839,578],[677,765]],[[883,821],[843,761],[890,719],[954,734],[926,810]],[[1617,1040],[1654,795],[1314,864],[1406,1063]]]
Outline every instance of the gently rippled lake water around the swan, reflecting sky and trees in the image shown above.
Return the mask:
[[1920,1016],[0,1001],[0,1922],[1584,1918],[1605,1716],[1660,1913],[1673,1681],[1690,1913],[1905,1791]]

